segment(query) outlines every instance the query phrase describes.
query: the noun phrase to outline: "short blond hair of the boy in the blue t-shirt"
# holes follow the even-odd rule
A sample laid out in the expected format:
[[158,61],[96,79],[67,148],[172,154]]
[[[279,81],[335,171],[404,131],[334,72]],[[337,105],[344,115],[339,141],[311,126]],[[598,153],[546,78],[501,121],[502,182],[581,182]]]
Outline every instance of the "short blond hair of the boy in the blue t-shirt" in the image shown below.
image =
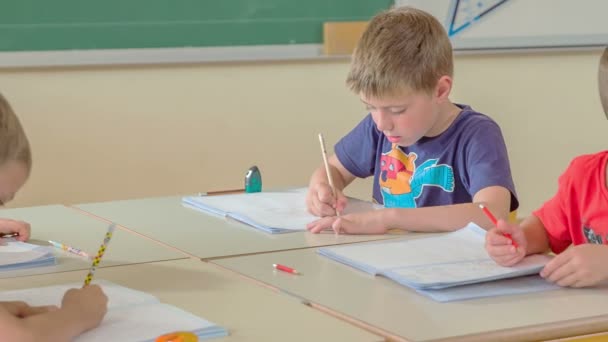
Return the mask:
[[353,54],[346,84],[355,93],[385,97],[402,91],[431,92],[453,74],[452,45],[429,13],[397,7],[376,15]]

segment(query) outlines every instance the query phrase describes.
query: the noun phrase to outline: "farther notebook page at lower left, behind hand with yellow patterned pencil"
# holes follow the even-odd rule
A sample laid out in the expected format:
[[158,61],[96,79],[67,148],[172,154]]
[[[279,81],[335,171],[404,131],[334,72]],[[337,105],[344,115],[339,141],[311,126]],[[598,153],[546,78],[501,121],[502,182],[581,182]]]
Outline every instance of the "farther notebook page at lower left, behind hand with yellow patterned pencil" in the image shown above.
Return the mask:
[[[108,296],[108,310],[158,302],[156,297],[148,293],[132,290],[109,281],[100,280],[93,283],[100,285],[103,292]],[[82,283],[71,283],[14,291],[2,291],[0,292],[0,301],[24,301],[32,306],[61,306],[61,299],[67,290],[81,287]]]

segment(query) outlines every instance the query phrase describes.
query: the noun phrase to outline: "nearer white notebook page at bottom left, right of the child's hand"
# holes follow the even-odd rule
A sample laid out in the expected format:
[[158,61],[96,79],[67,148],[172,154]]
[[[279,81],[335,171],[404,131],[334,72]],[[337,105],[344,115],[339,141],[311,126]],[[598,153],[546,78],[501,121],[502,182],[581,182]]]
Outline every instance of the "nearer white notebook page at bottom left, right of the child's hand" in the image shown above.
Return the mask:
[[154,341],[160,335],[174,331],[202,330],[214,327],[202,318],[171,305],[144,304],[108,311],[101,325],[74,341]]

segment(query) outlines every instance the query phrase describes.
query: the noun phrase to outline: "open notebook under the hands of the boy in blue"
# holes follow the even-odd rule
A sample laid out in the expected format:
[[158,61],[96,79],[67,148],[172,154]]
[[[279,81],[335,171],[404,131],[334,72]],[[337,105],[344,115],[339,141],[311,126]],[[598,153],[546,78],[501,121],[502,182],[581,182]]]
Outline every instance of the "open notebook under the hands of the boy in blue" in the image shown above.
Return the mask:
[[[226,216],[271,234],[306,230],[319,219],[306,210],[306,188],[219,196],[188,196],[182,203],[192,209]],[[349,198],[344,213],[373,210],[371,202]]]

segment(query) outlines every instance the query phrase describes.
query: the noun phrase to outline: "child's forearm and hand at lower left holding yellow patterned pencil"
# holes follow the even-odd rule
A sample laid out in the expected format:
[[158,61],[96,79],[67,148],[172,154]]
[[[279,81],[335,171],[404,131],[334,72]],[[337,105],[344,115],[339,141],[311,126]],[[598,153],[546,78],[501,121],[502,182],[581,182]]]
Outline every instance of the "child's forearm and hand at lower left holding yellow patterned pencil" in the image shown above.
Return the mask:
[[[67,342],[99,325],[107,310],[107,297],[97,285],[71,289],[60,309],[14,310],[0,305],[0,340]],[[24,312],[26,314],[24,314]]]

